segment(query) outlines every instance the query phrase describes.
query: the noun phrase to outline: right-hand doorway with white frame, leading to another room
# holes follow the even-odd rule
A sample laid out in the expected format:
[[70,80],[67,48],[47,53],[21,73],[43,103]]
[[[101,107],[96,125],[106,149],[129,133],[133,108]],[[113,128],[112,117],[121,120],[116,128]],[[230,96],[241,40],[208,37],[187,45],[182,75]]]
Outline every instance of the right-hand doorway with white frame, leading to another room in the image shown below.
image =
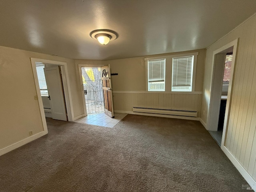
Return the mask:
[[213,52],[207,130],[221,147],[224,146],[228,126],[237,42],[236,39]]

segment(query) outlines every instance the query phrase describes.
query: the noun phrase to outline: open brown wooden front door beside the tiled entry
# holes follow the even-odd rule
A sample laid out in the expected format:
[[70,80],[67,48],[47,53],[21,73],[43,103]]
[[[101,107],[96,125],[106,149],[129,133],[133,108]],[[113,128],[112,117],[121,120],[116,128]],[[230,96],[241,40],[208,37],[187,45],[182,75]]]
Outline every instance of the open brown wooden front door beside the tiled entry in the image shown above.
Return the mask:
[[103,66],[101,68],[101,79],[105,104],[105,114],[114,118],[110,65]]

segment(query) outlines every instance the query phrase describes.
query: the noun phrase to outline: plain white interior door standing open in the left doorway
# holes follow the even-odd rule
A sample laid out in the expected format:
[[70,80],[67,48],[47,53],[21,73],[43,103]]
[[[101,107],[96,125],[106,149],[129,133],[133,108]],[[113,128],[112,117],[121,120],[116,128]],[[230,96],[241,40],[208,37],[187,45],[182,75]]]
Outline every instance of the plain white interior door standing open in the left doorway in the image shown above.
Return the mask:
[[62,80],[59,66],[44,68],[45,80],[50,99],[52,118],[67,120]]

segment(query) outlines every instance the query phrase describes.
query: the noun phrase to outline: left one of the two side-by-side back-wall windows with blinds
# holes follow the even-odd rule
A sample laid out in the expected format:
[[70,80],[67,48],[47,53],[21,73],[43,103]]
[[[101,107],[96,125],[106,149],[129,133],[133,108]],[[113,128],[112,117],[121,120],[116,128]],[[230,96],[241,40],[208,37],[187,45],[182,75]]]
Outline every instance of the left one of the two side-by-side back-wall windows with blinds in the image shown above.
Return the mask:
[[148,60],[148,91],[165,90],[165,58]]

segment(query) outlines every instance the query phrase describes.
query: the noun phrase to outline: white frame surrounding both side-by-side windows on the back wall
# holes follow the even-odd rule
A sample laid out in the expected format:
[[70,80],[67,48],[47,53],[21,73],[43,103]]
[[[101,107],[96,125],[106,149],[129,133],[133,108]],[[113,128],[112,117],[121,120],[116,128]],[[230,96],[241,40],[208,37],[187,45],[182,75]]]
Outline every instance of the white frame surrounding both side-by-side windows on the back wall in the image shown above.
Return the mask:
[[[192,88],[191,91],[172,91],[172,59],[175,57],[183,56],[194,56],[193,61],[193,72],[192,72]],[[175,94],[191,94],[195,92],[196,85],[196,65],[197,65],[198,52],[184,53],[184,54],[174,54],[144,58],[146,66],[146,92],[148,93],[175,93]],[[148,91],[148,60],[164,59],[165,58],[165,91]]]

